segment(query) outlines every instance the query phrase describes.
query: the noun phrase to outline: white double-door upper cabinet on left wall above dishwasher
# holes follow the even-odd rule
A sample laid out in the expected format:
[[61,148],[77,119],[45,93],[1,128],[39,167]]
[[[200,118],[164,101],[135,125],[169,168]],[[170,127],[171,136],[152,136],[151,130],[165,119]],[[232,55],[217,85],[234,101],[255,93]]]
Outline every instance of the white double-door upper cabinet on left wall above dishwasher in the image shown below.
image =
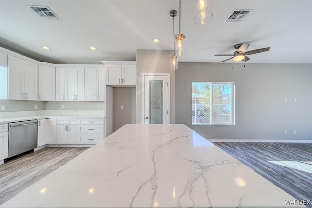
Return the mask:
[[38,99],[38,64],[8,56],[8,99]]

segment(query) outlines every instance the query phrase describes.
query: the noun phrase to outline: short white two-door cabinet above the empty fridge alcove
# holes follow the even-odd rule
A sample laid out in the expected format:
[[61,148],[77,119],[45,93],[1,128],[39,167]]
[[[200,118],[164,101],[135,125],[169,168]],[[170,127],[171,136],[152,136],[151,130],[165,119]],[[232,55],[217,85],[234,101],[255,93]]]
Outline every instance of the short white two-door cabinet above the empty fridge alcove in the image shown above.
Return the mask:
[[[104,63],[105,64],[105,63]],[[128,64],[105,65],[106,85],[111,86],[136,86],[137,66]]]

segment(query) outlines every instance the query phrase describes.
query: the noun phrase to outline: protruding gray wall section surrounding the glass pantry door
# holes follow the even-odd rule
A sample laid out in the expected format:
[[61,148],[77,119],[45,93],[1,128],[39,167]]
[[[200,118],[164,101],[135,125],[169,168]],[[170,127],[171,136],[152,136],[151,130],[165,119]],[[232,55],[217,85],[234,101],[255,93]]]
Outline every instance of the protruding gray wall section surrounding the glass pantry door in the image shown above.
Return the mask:
[[170,73],[170,123],[175,123],[175,71],[172,50],[137,50],[137,123],[142,122],[142,73]]

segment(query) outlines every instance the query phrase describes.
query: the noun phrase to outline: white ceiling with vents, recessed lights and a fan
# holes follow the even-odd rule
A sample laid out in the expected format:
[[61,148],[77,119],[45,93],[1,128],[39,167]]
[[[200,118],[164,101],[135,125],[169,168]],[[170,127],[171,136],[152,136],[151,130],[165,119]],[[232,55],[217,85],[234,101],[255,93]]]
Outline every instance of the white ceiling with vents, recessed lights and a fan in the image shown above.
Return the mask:
[[[181,32],[187,40],[179,62],[220,62],[229,57],[215,54],[233,54],[235,44],[249,43],[248,50],[270,47],[250,55],[249,63],[312,63],[312,0],[209,2],[213,19],[197,25],[196,0],[182,0]],[[26,5],[48,6],[61,21],[42,19]],[[172,49],[169,12],[178,10],[179,1],[1,0],[0,7],[1,46],[44,62],[100,63],[135,61],[137,49]],[[240,23],[223,23],[233,9],[253,11]]]

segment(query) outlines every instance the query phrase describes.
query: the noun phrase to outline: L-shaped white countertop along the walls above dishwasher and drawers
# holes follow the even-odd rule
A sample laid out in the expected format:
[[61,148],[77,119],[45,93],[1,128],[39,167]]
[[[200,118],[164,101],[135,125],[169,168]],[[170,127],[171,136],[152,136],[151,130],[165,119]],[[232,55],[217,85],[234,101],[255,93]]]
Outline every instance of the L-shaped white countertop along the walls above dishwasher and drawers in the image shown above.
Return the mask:
[[0,124],[46,118],[105,118],[100,110],[36,110],[1,112]]

